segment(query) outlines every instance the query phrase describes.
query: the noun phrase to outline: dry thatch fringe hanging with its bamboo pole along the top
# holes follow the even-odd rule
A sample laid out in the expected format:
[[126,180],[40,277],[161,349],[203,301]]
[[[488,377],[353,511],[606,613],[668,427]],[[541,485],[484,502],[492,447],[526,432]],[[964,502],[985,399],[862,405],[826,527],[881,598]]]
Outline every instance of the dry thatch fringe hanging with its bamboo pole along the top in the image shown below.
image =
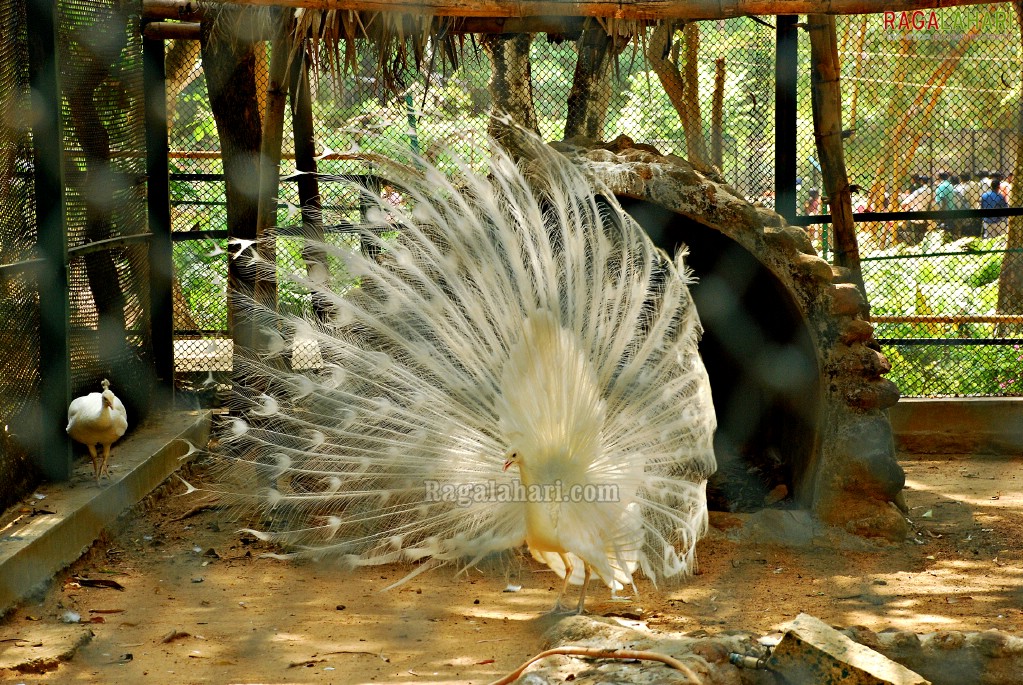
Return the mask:
[[[996,2],[999,0],[996,0]],[[1005,2],[1006,0],[1000,0]],[[400,89],[411,73],[455,68],[476,34],[546,33],[574,40],[586,27],[615,36],[642,36],[665,20],[747,15],[860,14],[911,11],[982,0],[143,0],[150,18],[220,17],[224,36],[248,40],[281,35],[310,41],[317,68],[357,66],[356,40],[377,52],[379,76]],[[226,17],[226,18],[224,18]],[[239,19],[239,17],[241,17]],[[255,17],[255,18],[254,18]],[[162,37],[197,35],[197,26],[164,25]],[[254,28],[255,27],[255,28]]]

